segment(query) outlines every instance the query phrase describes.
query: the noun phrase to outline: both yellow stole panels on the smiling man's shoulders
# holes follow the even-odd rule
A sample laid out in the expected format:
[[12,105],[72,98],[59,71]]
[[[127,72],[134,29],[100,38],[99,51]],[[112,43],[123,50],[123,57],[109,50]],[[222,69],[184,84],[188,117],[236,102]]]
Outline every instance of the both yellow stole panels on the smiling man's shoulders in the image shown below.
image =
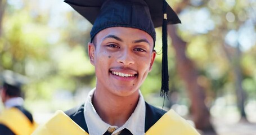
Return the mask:
[[[57,111],[46,124],[39,126],[32,135],[89,135],[62,111]],[[198,135],[199,133],[173,110],[169,110],[145,135]]]

